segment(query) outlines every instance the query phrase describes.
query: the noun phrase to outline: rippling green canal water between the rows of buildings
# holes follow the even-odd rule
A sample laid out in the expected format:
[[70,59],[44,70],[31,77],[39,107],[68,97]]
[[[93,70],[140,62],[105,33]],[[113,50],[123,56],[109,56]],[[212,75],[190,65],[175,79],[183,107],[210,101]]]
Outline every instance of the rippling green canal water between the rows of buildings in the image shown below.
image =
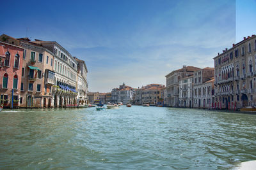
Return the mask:
[[0,113],[0,169],[230,169],[247,160],[256,160],[256,115],[142,106]]

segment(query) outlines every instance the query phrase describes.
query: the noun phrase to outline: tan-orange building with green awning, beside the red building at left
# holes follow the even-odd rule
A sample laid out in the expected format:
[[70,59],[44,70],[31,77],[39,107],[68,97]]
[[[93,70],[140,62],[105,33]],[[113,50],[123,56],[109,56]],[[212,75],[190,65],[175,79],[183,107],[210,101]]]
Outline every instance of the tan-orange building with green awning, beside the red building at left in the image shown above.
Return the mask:
[[54,84],[53,53],[31,42],[29,38],[12,38],[6,34],[1,35],[0,38],[24,48],[24,55],[20,57],[22,60],[20,107],[51,107],[51,90]]

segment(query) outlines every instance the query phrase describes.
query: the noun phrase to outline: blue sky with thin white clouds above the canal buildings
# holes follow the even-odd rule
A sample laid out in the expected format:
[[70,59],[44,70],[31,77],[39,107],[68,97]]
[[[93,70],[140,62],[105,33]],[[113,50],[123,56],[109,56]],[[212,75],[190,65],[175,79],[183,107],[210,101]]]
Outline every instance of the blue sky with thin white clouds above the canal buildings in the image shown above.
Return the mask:
[[92,92],[165,84],[182,66],[213,67],[218,52],[256,33],[256,0],[2,4],[12,8],[1,10],[1,34],[57,41],[86,62]]

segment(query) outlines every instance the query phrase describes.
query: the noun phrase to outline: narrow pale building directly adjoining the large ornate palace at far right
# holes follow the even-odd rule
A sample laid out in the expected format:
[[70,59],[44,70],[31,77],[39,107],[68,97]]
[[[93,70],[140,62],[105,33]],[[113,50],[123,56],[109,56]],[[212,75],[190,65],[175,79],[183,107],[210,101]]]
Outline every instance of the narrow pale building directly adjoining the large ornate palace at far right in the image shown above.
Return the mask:
[[[205,86],[205,82],[212,80],[214,77],[214,68],[205,67],[204,69],[199,69],[194,73],[194,85],[193,85],[193,105],[194,108],[209,108],[211,107],[211,90],[212,85]],[[207,96],[207,97],[206,97]],[[205,98],[206,97],[206,98]],[[210,97],[210,103],[209,98]],[[208,99],[208,102],[207,102]]]

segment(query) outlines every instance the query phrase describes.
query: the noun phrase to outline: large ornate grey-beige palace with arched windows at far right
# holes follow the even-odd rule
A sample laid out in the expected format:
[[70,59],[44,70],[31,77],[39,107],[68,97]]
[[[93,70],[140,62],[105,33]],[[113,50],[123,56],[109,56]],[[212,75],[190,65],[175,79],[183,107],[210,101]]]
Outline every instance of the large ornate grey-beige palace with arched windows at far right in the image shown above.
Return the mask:
[[256,36],[244,37],[214,59],[215,108],[256,105]]

